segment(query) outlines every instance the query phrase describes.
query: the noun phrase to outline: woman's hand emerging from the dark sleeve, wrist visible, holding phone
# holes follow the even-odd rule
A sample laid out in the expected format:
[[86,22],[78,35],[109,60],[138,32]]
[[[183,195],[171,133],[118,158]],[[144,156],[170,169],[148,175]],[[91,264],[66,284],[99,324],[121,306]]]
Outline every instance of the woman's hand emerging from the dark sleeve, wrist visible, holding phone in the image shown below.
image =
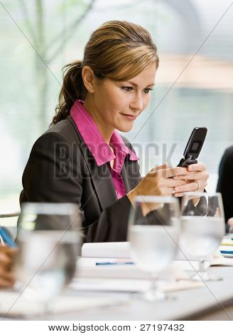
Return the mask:
[[141,179],[134,190],[127,193],[127,197],[134,204],[136,195],[173,195],[173,187],[185,185],[185,180],[174,180],[176,175],[188,174],[187,168],[168,168],[167,164],[153,168]]

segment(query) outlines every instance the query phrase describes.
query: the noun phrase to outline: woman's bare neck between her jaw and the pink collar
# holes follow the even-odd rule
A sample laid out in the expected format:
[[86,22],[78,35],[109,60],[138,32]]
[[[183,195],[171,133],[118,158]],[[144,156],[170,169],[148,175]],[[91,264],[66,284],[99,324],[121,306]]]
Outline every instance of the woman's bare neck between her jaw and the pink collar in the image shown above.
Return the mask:
[[94,103],[92,103],[90,99],[86,98],[83,106],[87,110],[87,112],[91,115],[92,119],[94,120],[94,123],[96,123],[99,133],[101,133],[104,140],[109,145],[110,139],[112,138],[112,134],[114,132],[114,128],[104,123],[104,120],[102,120],[99,113],[97,113],[96,108],[94,108]]

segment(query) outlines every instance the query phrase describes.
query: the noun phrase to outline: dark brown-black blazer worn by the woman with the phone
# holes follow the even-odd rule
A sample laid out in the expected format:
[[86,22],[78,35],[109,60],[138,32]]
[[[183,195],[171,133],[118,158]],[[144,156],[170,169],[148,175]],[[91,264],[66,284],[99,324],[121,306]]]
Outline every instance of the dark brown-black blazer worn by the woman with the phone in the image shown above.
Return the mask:
[[[126,156],[121,177],[126,193],[136,187],[139,163]],[[23,172],[23,202],[73,202],[80,206],[85,242],[126,240],[131,202],[126,195],[117,199],[109,163],[98,167],[70,116],[33,145]]]

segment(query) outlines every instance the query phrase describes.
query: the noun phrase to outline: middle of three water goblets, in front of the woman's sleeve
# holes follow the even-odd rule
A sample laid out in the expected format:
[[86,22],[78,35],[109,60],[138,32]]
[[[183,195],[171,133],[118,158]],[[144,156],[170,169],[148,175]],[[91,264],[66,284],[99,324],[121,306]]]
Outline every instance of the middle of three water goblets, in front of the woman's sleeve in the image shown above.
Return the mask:
[[178,249],[180,209],[175,197],[141,195],[135,198],[129,215],[128,240],[136,266],[151,275],[151,289],[143,298],[163,300],[156,279],[167,269]]

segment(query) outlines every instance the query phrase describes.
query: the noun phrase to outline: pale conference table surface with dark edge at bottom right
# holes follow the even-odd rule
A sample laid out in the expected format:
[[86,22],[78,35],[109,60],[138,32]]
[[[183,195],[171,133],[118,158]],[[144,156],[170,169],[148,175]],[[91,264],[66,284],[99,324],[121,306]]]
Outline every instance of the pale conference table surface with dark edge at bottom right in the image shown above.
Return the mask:
[[134,294],[109,292],[75,292],[66,294],[79,297],[107,297],[109,301],[121,299],[119,304],[90,308],[67,314],[51,314],[51,320],[232,320],[233,319],[233,267],[210,267],[211,276],[222,281],[205,282],[202,287],[168,294],[165,301],[147,302]]

